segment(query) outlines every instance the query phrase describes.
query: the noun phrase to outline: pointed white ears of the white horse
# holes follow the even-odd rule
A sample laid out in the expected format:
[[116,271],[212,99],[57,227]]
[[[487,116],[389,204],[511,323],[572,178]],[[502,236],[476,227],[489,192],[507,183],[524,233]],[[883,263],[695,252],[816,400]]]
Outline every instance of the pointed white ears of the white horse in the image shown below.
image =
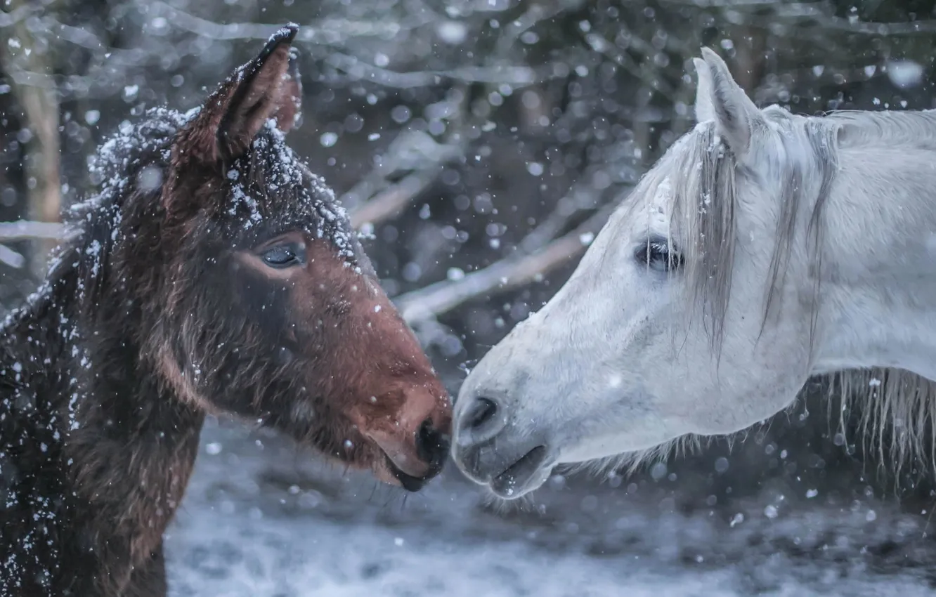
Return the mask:
[[[701,101],[700,98],[695,100],[696,117],[699,117],[701,105],[702,113],[707,116],[706,120],[714,120],[715,130],[719,136],[736,155],[742,156],[751,149],[754,129],[765,124],[764,116],[739,84],[732,79],[728,66],[718,54],[709,48],[703,48],[702,58],[708,66],[709,76],[706,78],[699,75],[698,95],[701,96],[708,91],[709,100],[707,102]],[[698,63],[695,67],[700,73],[706,70]],[[703,82],[704,79],[708,80]]]

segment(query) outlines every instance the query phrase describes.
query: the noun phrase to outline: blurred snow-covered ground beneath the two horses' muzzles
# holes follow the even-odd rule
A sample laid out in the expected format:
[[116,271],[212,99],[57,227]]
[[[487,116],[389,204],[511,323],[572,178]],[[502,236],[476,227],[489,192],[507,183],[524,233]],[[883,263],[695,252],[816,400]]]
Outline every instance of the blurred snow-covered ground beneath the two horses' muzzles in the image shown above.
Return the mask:
[[170,595],[936,593],[926,517],[880,503],[813,501],[780,516],[751,504],[741,521],[574,477],[498,514],[454,467],[405,499],[340,473],[278,437],[210,422],[167,533]]

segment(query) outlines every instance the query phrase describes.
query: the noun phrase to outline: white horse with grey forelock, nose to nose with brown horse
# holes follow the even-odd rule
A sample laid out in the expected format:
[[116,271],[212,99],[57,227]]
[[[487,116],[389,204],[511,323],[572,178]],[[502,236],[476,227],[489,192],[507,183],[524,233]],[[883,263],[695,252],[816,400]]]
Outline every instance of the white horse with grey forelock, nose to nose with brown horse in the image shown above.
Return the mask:
[[931,459],[936,110],[758,109],[702,54],[695,129],[461,387],[454,458],[500,497],[744,430],[823,374],[895,467]]

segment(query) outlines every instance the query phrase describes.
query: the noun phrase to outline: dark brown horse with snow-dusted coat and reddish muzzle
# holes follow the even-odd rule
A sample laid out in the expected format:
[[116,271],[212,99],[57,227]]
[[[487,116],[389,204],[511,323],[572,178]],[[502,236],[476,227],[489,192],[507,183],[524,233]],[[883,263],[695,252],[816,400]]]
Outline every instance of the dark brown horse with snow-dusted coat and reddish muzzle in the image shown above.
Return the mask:
[[71,240],[3,324],[0,594],[164,595],[206,413],[411,491],[441,470],[446,390],[284,142],[297,30],[200,109],[151,109],[105,143]]

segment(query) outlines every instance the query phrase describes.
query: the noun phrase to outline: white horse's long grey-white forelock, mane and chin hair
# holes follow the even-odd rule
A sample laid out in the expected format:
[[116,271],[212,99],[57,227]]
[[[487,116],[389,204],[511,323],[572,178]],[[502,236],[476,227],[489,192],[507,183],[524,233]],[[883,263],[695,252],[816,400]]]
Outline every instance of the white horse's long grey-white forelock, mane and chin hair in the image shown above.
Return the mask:
[[[782,180],[780,206],[776,218],[776,240],[765,288],[762,330],[772,310],[779,308],[780,290],[789,258],[793,251],[805,251],[812,261],[811,269],[821,266],[826,197],[839,169],[843,150],[881,143],[900,148],[936,150],[936,110],[914,112],[838,111],[821,117],[794,116],[785,109],[771,106],[763,110],[771,127],[784,133],[780,138],[782,159],[767,165],[771,174]],[[718,356],[724,338],[724,316],[731,296],[731,274],[738,243],[739,209],[737,177],[739,164],[735,155],[715,132],[713,122],[699,123],[683,135],[662,158],[669,167],[653,167],[638,184],[655,193],[669,193],[673,199],[670,227],[678,234],[670,237],[685,240],[688,246],[677,247],[685,260],[681,275],[685,276],[683,297],[689,317],[701,315],[712,348]],[[669,172],[686,173],[669,177]],[[635,192],[631,197],[653,197],[653,193]],[[804,206],[813,205],[808,214],[806,245],[797,246],[797,226]],[[636,201],[628,208],[636,210]],[[672,242],[672,240],[670,240]],[[813,289],[812,304],[820,292],[819,276]],[[701,300],[699,299],[701,298]],[[701,313],[697,313],[701,311]],[[810,349],[816,325],[817,309],[813,308]],[[936,473],[936,381],[897,368],[869,368],[834,371],[815,375],[804,386],[826,388],[828,415],[837,420],[839,430],[846,435],[848,413],[860,405],[858,431],[862,447],[876,449],[883,467],[885,451],[895,463],[895,475],[908,462],[918,461]],[[794,404],[797,400],[794,400]],[[841,405],[838,417],[833,408]],[[793,404],[791,404],[791,407]],[[749,430],[739,431],[745,434]],[[889,432],[889,433],[888,433]],[[739,434],[728,437],[729,443]],[[889,439],[888,439],[889,435]],[[690,452],[711,439],[701,435],[685,435],[649,450],[623,454],[593,463],[572,465],[572,469],[591,468],[608,471],[625,468],[634,472],[642,465],[663,459],[667,455]],[[924,467],[919,467],[917,472]]]

